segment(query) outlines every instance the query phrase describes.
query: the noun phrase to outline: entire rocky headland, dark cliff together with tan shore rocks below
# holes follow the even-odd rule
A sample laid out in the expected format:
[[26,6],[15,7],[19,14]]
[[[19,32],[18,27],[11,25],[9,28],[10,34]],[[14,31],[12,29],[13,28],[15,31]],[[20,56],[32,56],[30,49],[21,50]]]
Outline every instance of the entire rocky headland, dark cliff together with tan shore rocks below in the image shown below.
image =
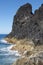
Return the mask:
[[13,65],[43,65],[43,4],[34,14],[31,4],[21,6],[5,40],[16,44],[11,50],[18,50],[22,55]]

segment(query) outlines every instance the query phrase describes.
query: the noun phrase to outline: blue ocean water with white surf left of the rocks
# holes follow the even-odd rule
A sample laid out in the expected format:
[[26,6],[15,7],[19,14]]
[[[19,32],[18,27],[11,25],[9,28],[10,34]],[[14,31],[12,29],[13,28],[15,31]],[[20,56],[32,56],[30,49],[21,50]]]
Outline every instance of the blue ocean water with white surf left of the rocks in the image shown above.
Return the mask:
[[12,65],[19,58],[18,51],[10,50],[13,44],[3,40],[6,34],[0,34],[0,65]]

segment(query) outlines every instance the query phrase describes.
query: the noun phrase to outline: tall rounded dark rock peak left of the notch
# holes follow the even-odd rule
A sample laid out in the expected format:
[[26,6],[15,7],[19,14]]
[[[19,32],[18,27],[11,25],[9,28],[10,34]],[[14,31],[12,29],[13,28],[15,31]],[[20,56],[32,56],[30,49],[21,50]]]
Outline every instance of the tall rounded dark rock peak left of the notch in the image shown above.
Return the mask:
[[10,33],[11,37],[16,37],[22,39],[28,37],[28,25],[32,14],[32,6],[30,4],[25,4],[21,6],[13,19],[12,32]]

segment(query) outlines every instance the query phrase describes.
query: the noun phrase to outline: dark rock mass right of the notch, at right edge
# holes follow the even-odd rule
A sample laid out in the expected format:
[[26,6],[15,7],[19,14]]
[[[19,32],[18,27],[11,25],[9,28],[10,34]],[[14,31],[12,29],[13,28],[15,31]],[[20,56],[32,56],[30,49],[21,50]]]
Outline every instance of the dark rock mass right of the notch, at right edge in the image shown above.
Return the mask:
[[35,22],[34,42],[39,42],[39,44],[43,43],[43,4],[35,11],[34,16],[32,17],[33,22]]

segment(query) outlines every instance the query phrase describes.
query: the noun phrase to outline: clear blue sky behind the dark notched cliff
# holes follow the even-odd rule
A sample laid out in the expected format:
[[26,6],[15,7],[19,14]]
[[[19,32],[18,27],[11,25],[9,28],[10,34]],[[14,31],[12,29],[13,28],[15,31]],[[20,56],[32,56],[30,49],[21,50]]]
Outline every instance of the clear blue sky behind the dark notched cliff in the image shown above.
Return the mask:
[[13,16],[18,8],[25,3],[30,3],[34,12],[41,6],[43,0],[0,0],[0,34],[11,32]]

